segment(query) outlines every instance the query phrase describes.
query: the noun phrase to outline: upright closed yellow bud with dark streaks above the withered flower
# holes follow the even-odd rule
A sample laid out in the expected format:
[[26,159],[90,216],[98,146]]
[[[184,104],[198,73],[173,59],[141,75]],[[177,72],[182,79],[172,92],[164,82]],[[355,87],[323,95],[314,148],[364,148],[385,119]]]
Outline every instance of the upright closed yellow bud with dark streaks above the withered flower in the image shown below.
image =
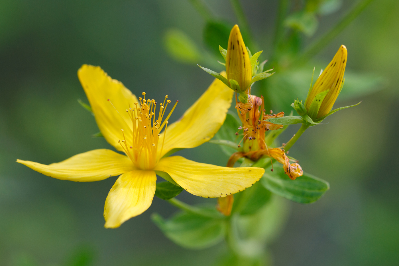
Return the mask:
[[[227,80],[235,80],[240,91],[244,92],[251,84],[252,68],[247,47],[243,41],[238,25],[234,25],[229,36],[226,54]],[[233,86],[231,86],[233,88]]]

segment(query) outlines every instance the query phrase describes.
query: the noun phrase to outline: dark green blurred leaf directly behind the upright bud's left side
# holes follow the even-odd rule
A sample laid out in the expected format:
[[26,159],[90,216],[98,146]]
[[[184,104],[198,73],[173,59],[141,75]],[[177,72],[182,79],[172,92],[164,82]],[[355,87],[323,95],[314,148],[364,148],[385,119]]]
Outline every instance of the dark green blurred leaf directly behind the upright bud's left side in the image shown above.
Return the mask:
[[[219,46],[227,45],[232,27],[233,25],[225,21],[211,20],[207,21],[203,28],[203,41],[206,47],[218,58],[220,58],[221,54]],[[223,57],[226,60],[226,57]]]

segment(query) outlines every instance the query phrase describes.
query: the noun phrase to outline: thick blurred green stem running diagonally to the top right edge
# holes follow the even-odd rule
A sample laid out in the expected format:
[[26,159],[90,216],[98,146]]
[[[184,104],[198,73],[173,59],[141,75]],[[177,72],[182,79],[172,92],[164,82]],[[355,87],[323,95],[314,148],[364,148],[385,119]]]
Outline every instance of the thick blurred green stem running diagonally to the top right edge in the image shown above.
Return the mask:
[[320,52],[332,39],[334,39],[346,26],[349,25],[373,0],[359,0],[359,2],[336,24],[328,33],[316,41],[297,60],[296,64],[304,64],[315,54]]

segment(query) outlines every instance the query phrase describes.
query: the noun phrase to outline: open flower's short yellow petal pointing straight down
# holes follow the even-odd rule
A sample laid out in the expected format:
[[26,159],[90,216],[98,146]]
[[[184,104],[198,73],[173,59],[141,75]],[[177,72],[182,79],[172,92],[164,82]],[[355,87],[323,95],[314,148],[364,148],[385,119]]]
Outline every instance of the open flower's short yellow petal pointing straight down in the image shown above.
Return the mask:
[[142,214],[154,198],[154,171],[135,170],[120,175],[108,193],[104,206],[105,227],[119,227],[124,221]]

